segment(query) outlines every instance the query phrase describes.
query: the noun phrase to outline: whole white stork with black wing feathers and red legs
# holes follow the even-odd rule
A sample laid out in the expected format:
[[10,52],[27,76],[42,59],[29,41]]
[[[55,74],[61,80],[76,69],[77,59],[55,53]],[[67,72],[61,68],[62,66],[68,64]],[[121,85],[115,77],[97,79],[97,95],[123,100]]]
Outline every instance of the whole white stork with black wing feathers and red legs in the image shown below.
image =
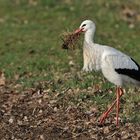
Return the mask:
[[140,86],[140,66],[134,59],[115,48],[94,43],[93,37],[95,29],[96,26],[94,22],[85,20],[81,23],[79,29],[75,31],[75,33],[85,33],[83,70],[101,70],[104,77],[117,86],[117,99],[111,107],[103,113],[100,123],[102,124],[105,121],[107,115],[116,104],[116,125],[118,125],[120,97],[123,95],[122,86],[126,84]]

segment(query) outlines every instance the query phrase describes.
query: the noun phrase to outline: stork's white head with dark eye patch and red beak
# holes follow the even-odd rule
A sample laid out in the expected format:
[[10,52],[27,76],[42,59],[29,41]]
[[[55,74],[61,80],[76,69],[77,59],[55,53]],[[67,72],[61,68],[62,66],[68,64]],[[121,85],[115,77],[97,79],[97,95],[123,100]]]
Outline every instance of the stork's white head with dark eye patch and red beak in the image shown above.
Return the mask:
[[95,23],[91,20],[85,20],[81,23],[75,33],[87,32],[89,30],[95,31]]

